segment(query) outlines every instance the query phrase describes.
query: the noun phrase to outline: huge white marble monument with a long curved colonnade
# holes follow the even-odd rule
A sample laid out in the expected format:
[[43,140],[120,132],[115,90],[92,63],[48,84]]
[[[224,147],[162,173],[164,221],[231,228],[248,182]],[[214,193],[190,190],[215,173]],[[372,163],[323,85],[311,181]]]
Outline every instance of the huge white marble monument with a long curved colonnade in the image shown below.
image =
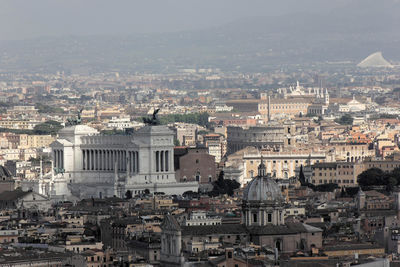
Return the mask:
[[50,147],[55,198],[124,197],[150,192],[197,191],[197,182],[178,183],[174,170],[174,133],[146,125],[131,135],[105,136],[89,126],[62,129]]

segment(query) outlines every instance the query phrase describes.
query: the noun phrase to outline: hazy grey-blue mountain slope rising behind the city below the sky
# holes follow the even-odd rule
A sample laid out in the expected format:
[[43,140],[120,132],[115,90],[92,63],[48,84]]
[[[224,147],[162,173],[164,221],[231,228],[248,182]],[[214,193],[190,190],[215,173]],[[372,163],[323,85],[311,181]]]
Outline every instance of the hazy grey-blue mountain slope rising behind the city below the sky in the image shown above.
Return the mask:
[[[0,71],[268,71],[282,65],[400,60],[400,2],[348,0],[333,11],[241,19],[204,30],[0,42]],[[346,2],[346,3],[347,3]]]

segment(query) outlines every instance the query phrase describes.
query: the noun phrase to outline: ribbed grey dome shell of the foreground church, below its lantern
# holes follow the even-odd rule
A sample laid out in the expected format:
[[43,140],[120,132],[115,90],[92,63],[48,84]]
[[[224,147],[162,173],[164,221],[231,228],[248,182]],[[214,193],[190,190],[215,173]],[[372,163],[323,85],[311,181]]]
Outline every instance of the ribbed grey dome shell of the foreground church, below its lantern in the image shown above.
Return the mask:
[[257,176],[244,190],[244,201],[284,201],[281,189],[278,184],[269,177]]

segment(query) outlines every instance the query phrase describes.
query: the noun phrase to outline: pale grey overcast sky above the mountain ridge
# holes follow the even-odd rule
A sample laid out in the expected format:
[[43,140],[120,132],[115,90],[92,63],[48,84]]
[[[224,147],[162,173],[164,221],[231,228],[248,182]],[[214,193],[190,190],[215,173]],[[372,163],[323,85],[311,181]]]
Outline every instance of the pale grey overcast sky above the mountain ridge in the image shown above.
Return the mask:
[[351,1],[357,0],[0,0],[0,39],[181,31]]

